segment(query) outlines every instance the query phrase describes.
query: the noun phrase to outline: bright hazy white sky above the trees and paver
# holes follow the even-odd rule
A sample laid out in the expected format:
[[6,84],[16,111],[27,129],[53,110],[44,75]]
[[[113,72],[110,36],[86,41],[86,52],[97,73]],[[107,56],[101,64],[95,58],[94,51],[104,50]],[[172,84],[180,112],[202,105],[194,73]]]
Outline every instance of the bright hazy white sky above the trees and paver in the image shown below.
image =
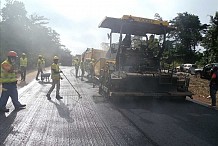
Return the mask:
[[[163,20],[172,20],[178,13],[197,15],[202,24],[218,11],[218,0],[18,0],[24,3],[27,15],[37,14],[49,19],[48,26],[60,34],[61,43],[72,55],[87,48],[101,49],[108,43],[109,29],[98,28],[107,17],[132,15],[153,19],[155,13]],[[4,0],[2,1],[4,4]],[[2,5],[3,7],[4,5]]]

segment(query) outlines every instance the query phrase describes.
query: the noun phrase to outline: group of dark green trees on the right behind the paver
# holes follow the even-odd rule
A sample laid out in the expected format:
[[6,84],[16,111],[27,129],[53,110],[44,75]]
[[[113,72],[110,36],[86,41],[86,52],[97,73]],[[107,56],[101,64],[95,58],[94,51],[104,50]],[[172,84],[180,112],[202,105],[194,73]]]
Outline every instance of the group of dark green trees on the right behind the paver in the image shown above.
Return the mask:
[[170,23],[175,30],[167,36],[165,56],[200,66],[218,62],[218,12],[210,16],[209,24],[201,24],[198,16],[187,12],[178,13]]

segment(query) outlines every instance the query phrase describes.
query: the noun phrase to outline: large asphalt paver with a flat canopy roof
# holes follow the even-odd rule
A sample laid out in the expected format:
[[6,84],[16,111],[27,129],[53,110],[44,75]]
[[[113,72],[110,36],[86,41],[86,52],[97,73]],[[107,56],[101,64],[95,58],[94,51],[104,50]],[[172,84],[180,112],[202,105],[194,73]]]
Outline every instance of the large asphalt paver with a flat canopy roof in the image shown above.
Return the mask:
[[[105,17],[99,28],[111,30],[110,49],[100,71],[98,69],[100,94],[105,97],[192,97],[188,90],[189,75],[161,65],[166,34],[174,30],[167,21],[124,15]],[[158,36],[161,41],[156,39]]]

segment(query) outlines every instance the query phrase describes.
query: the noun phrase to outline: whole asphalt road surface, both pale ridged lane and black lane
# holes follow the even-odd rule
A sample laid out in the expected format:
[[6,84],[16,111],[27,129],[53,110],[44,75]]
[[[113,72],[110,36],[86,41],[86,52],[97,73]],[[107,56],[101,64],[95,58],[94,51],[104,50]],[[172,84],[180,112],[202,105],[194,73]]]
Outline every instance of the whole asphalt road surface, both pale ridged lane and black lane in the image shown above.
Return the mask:
[[125,97],[111,100],[98,94],[86,79],[62,67],[63,100],[46,99],[51,84],[29,81],[19,89],[26,109],[0,113],[0,145],[218,145],[218,112],[191,101]]

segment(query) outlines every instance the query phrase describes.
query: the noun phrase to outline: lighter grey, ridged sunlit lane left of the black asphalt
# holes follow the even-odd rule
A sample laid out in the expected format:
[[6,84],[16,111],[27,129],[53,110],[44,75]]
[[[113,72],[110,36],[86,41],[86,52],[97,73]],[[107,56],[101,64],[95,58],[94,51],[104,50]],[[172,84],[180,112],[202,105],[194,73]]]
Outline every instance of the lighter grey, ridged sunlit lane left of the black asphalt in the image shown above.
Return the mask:
[[152,145],[96,88],[76,79],[71,68],[62,70],[82,98],[66,79],[61,81],[63,100],[55,99],[55,91],[51,101],[46,99],[51,84],[30,82],[19,89],[26,109],[15,111],[9,103],[10,112],[0,115],[1,145]]

